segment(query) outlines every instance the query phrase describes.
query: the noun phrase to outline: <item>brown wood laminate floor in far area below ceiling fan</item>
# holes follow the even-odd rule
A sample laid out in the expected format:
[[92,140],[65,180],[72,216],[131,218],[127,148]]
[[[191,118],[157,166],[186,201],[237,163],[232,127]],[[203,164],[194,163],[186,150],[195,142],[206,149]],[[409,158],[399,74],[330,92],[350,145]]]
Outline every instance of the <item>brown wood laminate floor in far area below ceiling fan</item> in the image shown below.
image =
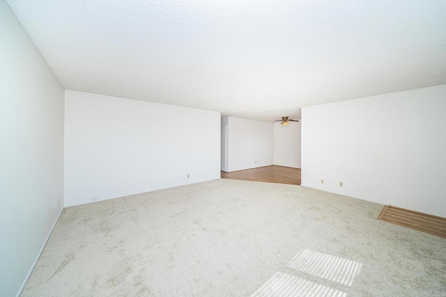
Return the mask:
[[300,185],[300,169],[272,165],[233,172],[222,171],[222,178]]

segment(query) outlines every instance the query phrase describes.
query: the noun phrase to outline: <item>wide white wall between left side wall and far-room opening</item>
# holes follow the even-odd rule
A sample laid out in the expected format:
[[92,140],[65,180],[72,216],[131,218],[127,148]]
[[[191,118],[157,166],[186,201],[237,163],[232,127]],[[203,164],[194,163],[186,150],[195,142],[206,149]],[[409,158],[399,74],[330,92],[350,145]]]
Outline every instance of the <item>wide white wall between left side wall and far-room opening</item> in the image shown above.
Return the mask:
[[220,178],[218,112],[71,90],[65,107],[66,206]]

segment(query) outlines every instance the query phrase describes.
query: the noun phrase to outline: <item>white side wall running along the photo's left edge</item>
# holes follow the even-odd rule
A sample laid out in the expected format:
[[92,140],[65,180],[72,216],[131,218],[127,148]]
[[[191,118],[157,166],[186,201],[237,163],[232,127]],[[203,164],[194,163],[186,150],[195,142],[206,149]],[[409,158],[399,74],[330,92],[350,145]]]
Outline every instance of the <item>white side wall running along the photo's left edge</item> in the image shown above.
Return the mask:
[[63,88],[3,0],[0,65],[0,295],[15,296],[63,206]]

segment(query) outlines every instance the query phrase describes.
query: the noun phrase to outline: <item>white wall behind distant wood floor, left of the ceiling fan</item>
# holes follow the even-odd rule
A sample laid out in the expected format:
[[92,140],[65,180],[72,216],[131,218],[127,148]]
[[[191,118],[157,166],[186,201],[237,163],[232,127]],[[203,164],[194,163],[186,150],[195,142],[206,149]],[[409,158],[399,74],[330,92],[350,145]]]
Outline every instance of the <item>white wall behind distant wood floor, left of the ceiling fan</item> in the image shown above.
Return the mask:
[[229,172],[274,163],[272,122],[229,117],[228,127]]

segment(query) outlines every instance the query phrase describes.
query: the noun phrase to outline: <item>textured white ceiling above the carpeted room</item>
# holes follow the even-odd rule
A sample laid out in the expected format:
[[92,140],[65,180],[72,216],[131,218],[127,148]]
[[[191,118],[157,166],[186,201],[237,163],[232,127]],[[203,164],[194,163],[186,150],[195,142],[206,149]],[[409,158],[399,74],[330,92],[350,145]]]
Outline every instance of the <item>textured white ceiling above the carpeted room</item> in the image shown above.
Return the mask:
[[446,83],[446,1],[8,0],[63,86],[273,120]]

